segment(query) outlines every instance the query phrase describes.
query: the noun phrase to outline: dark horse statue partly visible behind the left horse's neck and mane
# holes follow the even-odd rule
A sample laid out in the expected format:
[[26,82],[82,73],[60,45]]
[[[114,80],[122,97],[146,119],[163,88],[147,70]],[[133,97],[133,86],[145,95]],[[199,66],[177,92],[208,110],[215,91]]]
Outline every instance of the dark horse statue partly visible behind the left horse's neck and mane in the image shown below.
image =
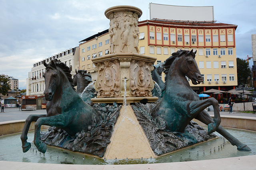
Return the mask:
[[76,87],[76,93],[81,94],[84,89],[92,82],[91,74],[87,73],[87,70],[76,70],[74,75],[74,85]]

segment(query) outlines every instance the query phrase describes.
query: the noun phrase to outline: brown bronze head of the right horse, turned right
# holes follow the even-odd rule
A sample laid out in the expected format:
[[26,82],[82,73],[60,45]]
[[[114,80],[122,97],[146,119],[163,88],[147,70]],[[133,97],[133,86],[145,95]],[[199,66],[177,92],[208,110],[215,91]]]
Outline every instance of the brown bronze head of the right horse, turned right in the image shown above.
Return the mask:
[[180,57],[176,58],[175,65],[178,64],[180,72],[190,78],[193,84],[200,84],[203,82],[200,70],[196,64],[196,51],[182,51]]

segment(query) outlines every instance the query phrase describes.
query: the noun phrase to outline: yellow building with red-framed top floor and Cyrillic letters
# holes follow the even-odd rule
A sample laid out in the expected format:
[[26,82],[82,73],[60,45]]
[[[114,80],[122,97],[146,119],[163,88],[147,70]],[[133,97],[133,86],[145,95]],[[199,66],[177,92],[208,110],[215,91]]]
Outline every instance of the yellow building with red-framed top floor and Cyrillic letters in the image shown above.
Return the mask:
[[[164,62],[179,49],[197,51],[196,62],[204,83],[190,86],[200,93],[211,88],[230,90],[237,86],[235,30],[237,25],[214,21],[145,20],[140,28],[140,54]],[[84,39],[79,45],[80,69],[88,70],[96,80],[90,59],[109,53],[108,30]],[[164,80],[164,73],[162,74]]]

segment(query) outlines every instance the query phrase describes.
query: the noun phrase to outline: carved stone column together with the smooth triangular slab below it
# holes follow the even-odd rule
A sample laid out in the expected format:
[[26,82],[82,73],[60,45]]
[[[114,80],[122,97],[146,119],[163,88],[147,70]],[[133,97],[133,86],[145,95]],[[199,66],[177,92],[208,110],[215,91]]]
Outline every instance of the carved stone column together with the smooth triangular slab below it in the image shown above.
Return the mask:
[[156,102],[152,97],[154,82],[151,78],[155,57],[139,54],[138,18],[142,11],[134,6],[114,6],[105,11],[110,19],[110,54],[92,59],[98,78],[94,103],[126,103],[122,106],[104,157],[106,159],[156,158],[150,143],[130,106],[130,103]]

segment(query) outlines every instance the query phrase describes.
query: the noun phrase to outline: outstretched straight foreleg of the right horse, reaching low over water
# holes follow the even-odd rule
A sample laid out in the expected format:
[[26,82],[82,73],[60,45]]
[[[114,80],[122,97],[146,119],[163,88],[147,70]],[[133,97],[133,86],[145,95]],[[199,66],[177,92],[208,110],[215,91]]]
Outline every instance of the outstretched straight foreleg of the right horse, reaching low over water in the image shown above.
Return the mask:
[[[195,117],[195,119],[198,119],[199,121],[201,121],[202,123],[204,123],[206,125],[209,125],[210,123],[214,122],[212,117],[206,111],[202,111],[201,113],[199,113]],[[228,133],[221,125],[218,126],[216,131],[218,133],[220,133],[220,135],[225,137],[233,146],[236,145],[237,150],[240,150],[240,151],[250,151],[251,150],[247,145],[241,143],[238,139],[236,139],[234,136],[232,136],[230,133]]]

